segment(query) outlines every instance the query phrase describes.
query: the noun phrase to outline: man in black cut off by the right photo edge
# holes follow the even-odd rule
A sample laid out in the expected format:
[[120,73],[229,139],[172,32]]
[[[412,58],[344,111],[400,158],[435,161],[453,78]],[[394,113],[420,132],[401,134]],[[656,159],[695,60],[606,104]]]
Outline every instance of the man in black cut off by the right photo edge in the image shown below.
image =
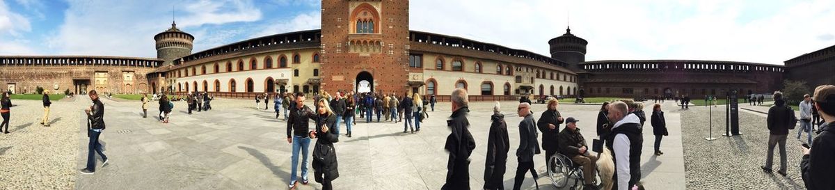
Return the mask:
[[835,171],[835,86],[821,85],[815,88],[815,107],[827,123],[812,140],[812,149],[803,148],[800,163],[801,176],[807,189],[835,189],[832,171]]

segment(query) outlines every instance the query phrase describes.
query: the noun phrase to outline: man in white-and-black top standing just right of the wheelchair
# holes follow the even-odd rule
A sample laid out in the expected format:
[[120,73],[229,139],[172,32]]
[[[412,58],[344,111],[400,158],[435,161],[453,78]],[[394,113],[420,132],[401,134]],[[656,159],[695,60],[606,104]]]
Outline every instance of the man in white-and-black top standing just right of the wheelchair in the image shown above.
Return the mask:
[[644,143],[640,118],[629,112],[625,102],[612,102],[609,107],[609,120],[615,122],[606,140],[606,147],[612,150],[612,158],[615,158],[615,180],[612,187],[618,190],[632,189],[640,180],[640,153]]

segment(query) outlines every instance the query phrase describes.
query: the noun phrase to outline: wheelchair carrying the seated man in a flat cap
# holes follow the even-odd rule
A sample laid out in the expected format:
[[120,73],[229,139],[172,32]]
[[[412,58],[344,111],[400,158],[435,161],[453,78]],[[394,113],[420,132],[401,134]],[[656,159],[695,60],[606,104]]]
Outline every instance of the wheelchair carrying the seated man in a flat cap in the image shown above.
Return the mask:
[[[551,183],[556,188],[564,188],[568,185],[569,180],[574,180],[574,185],[569,189],[581,190],[584,185],[583,167],[571,161],[562,153],[554,153],[554,156],[548,159],[548,176],[551,178]],[[592,183],[596,187],[600,187],[600,170],[595,168],[597,175]]]

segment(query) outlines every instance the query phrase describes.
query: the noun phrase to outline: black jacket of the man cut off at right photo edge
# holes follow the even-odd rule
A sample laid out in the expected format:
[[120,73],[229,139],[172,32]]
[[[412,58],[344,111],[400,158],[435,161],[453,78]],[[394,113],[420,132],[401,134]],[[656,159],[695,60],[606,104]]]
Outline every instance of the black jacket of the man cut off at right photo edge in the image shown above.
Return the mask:
[[835,122],[821,127],[821,133],[812,140],[809,155],[803,155],[800,173],[807,189],[835,189],[832,171],[835,171]]

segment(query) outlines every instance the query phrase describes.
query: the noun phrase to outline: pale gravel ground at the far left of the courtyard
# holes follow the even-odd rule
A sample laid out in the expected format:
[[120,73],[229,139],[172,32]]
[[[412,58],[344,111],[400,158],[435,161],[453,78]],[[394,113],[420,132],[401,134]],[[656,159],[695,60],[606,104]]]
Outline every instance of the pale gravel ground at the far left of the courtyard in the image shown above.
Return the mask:
[[[49,121],[40,124],[39,100],[13,100],[8,134],[0,134],[0,189],[72,189],[78,150],[79,112],[89,100],[53,101]],[[78,112],[65,112],[78,110]]]

